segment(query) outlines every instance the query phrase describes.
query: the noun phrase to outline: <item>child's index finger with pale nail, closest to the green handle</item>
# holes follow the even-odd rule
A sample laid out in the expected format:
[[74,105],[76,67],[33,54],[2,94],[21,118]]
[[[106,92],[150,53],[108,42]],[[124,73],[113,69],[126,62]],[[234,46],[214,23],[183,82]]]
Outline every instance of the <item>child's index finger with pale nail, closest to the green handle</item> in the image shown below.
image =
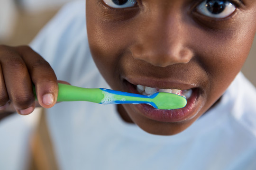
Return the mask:
[[28,46],[18,47],[27,65],[32,82],[36,86],[37,100],[44,108],[55,105],[58,97],[58,84],[50,64]]

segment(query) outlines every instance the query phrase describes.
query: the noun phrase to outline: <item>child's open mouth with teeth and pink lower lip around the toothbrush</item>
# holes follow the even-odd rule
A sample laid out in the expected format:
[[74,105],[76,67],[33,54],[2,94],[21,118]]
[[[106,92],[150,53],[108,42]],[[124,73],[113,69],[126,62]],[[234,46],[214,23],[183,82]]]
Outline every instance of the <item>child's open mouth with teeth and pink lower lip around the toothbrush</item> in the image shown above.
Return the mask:
[[[128,87],[128,92],[130,93],[139,93],[143,95],[152,95],[157,92],[165,93],[175,93],[186,98],[187,105],[181,109],[174,110],[160,110],[155,109],[153,106],[148,104],[137,104],[133,105],[136,110],[146,116],[149,119],[162,121],[162,122],[179,122],[187,119],[192,119],[196,115],[196,110],[199,107],[198,101],[200,98],[199,88],[183,88],[180,89],[165,89],[158,87],[149,87],[146,85],[135,85],[128,81],[125,81],[126,86]],[[175,85],[176,86],[176,85]]]

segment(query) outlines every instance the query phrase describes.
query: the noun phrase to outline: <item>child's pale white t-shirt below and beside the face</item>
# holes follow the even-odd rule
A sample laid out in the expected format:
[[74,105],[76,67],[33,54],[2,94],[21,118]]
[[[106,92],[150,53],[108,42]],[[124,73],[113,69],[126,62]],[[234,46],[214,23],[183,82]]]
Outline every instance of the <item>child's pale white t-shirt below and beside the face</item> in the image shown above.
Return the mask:
[[[91,58],[83,0],[65,6],[32,48],[51,64],[59,80],[109,88]],[[151,135],[125,123],[115,105],[62,102],[46,114],[61,170],[254,170],[255,102],[255,87],[239,73],[217,106],[174,136]],[[3,123],[11,127],[16,117]],[[1,130],[1,124],[0,136],[15,130]],[[7,152],[0,152],[0,162],[7,160]]]

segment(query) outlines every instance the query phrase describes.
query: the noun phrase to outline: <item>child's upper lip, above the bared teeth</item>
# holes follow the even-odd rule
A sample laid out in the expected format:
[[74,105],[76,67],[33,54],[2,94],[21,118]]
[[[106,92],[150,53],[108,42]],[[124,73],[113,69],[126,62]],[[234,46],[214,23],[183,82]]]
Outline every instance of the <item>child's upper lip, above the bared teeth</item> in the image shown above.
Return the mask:
[[174,78],[155,78],[147,76],[126,76],[121,77],[121,79],[128,81],[133,85],[144,85],[147,87],[154,87],[159,89],[178,89],[178,90],[188,90],[198,87],[194,83],[184,82],[185,80],[177,80]]

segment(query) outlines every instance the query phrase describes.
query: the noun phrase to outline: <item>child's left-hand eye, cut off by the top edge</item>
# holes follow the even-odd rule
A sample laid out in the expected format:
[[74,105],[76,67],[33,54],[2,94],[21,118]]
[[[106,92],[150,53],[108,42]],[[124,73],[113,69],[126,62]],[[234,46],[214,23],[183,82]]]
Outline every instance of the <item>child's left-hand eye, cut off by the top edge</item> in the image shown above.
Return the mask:
[[137,5],[137,0],[103,0],[104,3],[112,8],[129,8]]

